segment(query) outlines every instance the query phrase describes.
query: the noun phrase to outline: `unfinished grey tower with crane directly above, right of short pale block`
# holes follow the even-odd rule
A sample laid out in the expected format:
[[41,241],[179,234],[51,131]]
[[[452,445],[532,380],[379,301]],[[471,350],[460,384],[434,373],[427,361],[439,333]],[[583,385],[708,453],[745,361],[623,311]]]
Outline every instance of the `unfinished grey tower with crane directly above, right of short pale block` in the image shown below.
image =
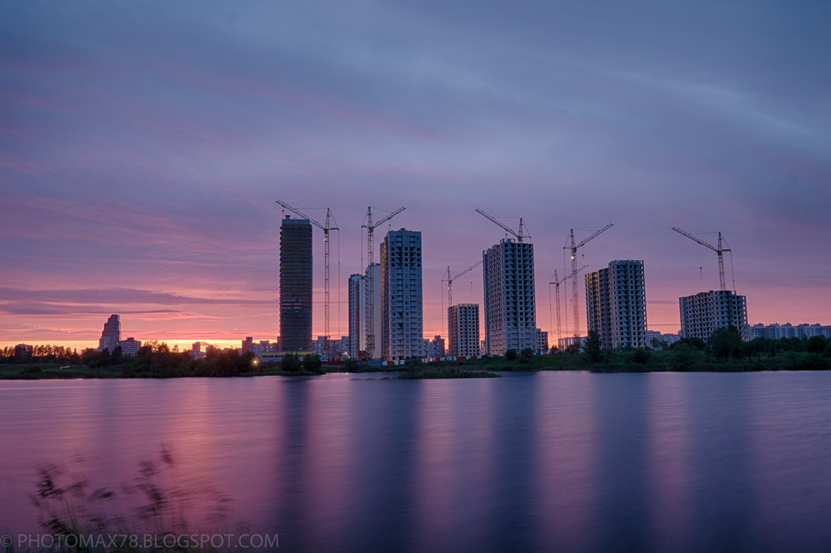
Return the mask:
[[482,252],[484,340],[489,355],[537,348],[534,244],[503,238]]

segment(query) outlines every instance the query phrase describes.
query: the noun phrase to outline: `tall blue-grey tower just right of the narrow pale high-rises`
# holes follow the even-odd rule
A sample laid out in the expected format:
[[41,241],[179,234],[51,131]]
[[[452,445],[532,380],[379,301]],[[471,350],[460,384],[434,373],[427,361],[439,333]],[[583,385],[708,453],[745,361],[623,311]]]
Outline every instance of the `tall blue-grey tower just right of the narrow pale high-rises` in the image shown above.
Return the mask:
[[425,355],[421,298],[421,232],[387,232],[381,244],[381,359]]

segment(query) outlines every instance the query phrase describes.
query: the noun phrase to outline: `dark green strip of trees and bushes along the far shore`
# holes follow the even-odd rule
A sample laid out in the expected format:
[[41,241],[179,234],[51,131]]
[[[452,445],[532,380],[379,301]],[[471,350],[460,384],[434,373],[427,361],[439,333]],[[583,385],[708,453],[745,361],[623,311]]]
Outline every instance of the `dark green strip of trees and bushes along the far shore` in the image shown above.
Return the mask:
[[783,338],[749,342],[740,340],[733,328],[716,330],[706,343],[683,339],[671,347],[657,343],[655,349],[603,350],[593,332],[583,350],[534,355],[532,350],[464,361],[436,361],[407,365],[363,365],[347,360],[342,365],[323,365],[317,355],[303,359],[288,355],[282,364],[259,363],[251,353],[209,348],[205,358],[191,359],[187,352],[151,341],[137,355],[123,355],[119,348],[84,350],[81,355],[60,346],[34,346],[32,350],[6,348],[0,351],[0,379],[111,379],[182,378],[232,376],[314,376],[327,372],[401,373],[401,379],[492,378],[504,371],[589,370],[598,373],[645,372],[746,372],[765,370],[831,369],[831,340],[814,336],[808,340]]

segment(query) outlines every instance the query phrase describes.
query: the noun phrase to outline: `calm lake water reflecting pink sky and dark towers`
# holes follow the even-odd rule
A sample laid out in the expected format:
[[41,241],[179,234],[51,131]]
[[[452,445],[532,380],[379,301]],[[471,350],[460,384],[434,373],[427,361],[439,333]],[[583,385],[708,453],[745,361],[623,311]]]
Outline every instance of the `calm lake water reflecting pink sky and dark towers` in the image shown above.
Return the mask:
[[828,551],[831,372],[0,383],[0,531],[37,466],[170,443],[278,551]]

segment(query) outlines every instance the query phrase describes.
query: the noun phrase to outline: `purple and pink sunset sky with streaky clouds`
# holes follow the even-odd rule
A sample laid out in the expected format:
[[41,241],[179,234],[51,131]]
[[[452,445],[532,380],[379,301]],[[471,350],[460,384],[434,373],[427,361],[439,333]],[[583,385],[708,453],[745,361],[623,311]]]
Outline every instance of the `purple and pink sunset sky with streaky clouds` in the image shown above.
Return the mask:
[[[505,237],[475,208],[523,218],[552,335],[568,233],[607,223],[580,265],[643,260],[652,330],[719,287],[672,227],[723,233],[751,325],[831,325],[829,21],[764,0],[0,2],[0,345],[96,345],[111,313],[123,338],[275,340],[276,200],[340,228],[333,337],[368,206],[406,207],[376,245],[422,232],[427,337],[447,267]],[[479,267],[453,301],[481,303]]]

